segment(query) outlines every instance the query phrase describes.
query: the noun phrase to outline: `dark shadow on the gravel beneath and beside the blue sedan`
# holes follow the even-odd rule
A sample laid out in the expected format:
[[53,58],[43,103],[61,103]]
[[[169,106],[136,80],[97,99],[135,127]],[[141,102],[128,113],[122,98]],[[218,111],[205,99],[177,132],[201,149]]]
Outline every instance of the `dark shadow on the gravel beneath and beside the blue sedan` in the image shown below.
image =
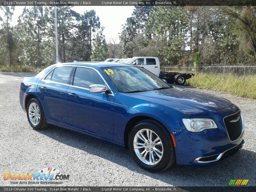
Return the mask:
[[[65,145],[75,147],[92,155],[97,155],[98,157],[127,167],[132,171],[173,186],[228,186],[231,179],[249,179],[248,184],[250,186],[256,185],[256,153],[249,150],[241,149],[232,157],[210,167],[181,167],[175,164],[160,173],[150,173],[135,163],[128,150],[57,126],[50,126],[48,129],[38,132]],[[86,155],[86,153],[81,153],[81,155]]]

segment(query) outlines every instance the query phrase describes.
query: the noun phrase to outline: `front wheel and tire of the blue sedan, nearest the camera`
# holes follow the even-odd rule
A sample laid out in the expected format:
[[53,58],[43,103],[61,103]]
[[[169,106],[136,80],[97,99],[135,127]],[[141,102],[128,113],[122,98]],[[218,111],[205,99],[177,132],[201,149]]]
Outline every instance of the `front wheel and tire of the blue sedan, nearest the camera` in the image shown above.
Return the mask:
[[151,172],[167,169],[176,159],[170,133],[153,119],[141,121],[133,127],[129,149],[135,162]]

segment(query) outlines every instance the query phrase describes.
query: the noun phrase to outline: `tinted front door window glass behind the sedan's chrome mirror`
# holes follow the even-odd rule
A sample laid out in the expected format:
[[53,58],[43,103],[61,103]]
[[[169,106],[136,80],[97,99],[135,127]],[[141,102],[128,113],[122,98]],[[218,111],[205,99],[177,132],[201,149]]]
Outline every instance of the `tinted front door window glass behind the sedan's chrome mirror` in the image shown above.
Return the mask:
[[95,70],[77,67],[73,85],[89,89],[89,86],[93,84],[105,85],[105,82]]

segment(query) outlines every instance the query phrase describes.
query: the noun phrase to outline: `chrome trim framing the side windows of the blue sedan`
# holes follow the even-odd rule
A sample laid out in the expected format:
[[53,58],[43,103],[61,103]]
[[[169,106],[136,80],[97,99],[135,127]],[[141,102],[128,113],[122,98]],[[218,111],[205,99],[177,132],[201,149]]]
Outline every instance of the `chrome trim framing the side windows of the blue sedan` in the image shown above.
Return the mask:
[[[103,79],[103,81],[105,82],[105,84],[107,85],[107,88],[110,90],[111,94],[108,94],[108,95],[114,95],[114,92],[111,90],[110,86],[108,85],[108,83],[106,82],[106,80],[103,78],[103,76],[99,73],[99,71],[93,67],[89,67],[89,66],[81,66],[81,65],[57,65],[55,67],[53,67],[53,69],[51,69],[42,79],[41,81],[44,81],[44,82],[51,82],[51,83],[56,83],[56,84],[59,84],[59,85],[67,85],[67,86],[71,86],[71,87],[75,87],[75,88],[79,88],[79,89],[85,89],[85,90],[89,90],[88,88],[85,88],[85,87],[79,87],[79,86],[74,86],[74,85],[70,85],[70,84],[65,84],[65,83],[59,83],[59,82],[55,82],[55,81],[49,81],[49,80],[45,80],[45,78],[47,77],[47,75],[49,73],[51,73],[52,70],[54,70],[55,68],[57,67],[83,67],[83,68],[87,68],[87,69],[93,69],[94,71],[96,71],[99,76]],[[74,75],[75,77],[75,75]],[[73,82],[72,82],[73,83]],[[103,93],[102,93],[103,94]]]

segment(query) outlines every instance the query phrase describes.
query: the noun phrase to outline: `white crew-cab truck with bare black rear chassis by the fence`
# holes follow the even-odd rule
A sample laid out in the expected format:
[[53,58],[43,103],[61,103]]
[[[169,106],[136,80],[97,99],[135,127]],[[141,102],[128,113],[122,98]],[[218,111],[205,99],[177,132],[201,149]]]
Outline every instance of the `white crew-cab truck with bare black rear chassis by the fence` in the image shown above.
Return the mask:
[[156,76],[165,79],[167,83],[175,82],[176,85],[184,85],[186,83],[186,79],[195,76],[194,73],[160,71],[160,63],[157,57],[133,57],[129,60],[126,60],[124,63],[143,67],[144,69],[150,71]]

